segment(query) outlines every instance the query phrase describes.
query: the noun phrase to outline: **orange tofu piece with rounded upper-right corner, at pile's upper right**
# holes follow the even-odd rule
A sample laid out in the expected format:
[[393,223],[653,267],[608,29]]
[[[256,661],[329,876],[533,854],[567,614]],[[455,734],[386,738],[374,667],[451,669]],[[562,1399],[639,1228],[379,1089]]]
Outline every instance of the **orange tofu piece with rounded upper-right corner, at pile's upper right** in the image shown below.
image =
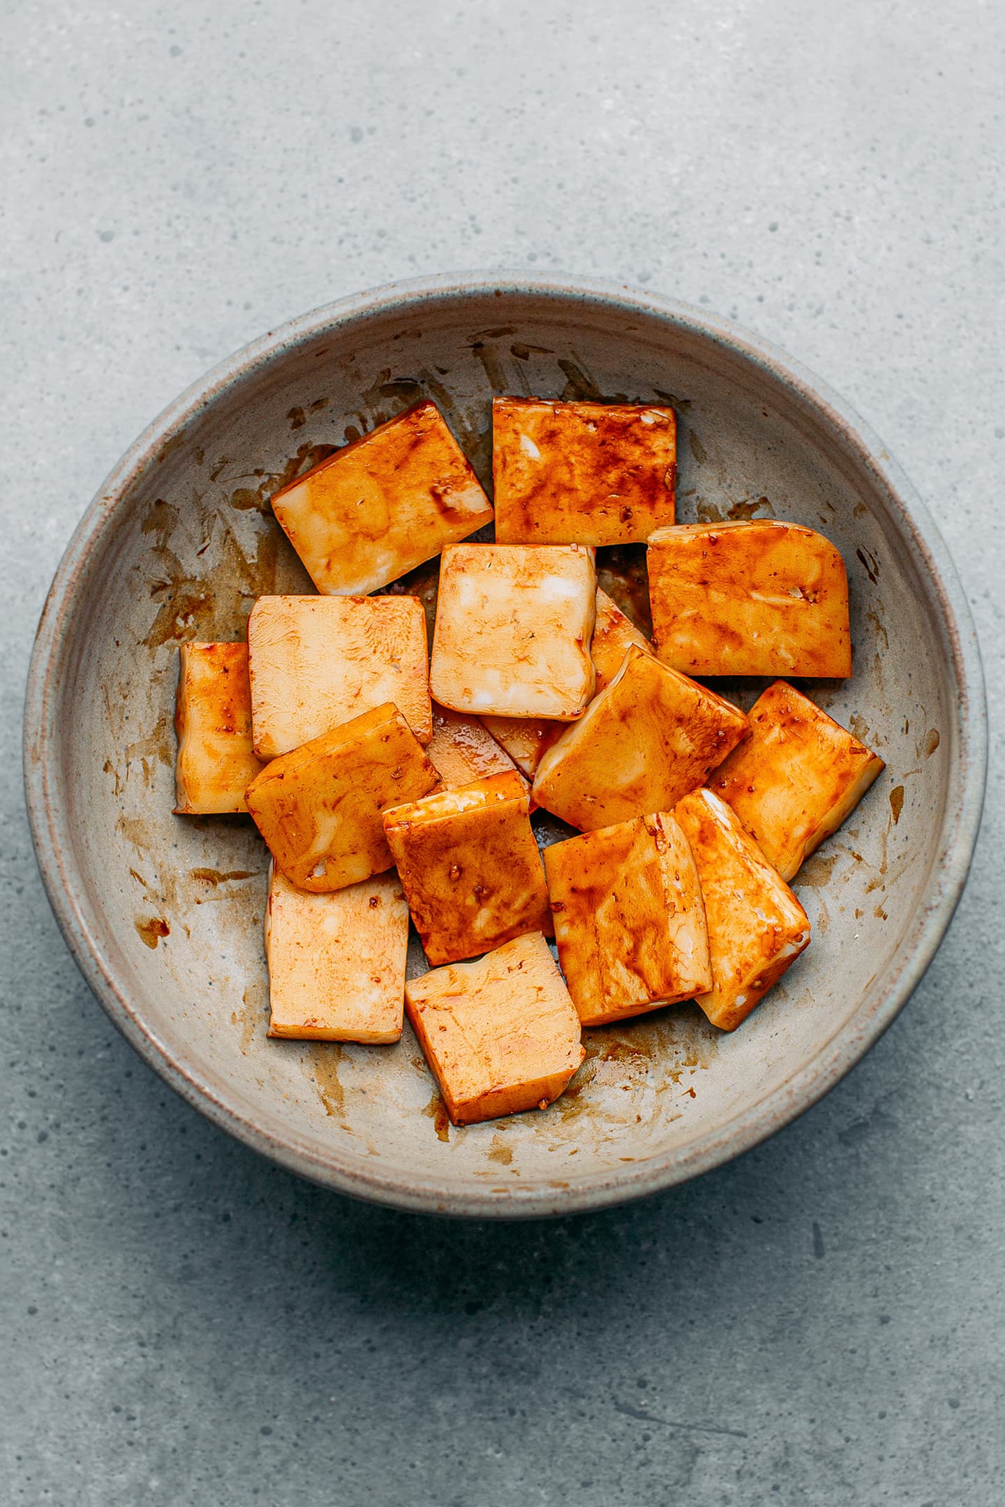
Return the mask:
[[649,540],[652,637],[686,675],[851,674],[839,552],[797,523],[686,523]]

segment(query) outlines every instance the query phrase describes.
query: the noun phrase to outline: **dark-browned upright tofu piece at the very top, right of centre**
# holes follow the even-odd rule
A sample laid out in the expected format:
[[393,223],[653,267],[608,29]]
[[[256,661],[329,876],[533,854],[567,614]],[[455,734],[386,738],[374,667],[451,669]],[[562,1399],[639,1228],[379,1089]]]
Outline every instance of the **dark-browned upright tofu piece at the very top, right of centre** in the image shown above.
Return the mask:
[[496,398],[493,481],[500,544],[640,543],[674,523],[674,410]]

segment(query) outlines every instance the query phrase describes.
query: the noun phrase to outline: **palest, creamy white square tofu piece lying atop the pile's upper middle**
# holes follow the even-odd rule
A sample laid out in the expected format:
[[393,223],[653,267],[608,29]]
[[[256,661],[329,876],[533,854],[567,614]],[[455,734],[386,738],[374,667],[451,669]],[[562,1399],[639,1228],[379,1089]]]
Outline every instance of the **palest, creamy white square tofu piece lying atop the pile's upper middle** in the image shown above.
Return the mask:
[[440,564],[432,695],[454,711],[571,722],[594,695],[594,552],[451,544]]

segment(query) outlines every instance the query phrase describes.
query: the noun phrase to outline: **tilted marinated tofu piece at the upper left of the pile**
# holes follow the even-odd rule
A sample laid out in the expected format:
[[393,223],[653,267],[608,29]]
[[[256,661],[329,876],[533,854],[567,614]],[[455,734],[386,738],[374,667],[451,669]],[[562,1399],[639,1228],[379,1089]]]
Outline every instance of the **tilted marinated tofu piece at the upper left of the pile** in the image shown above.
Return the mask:
[[387,586],[493,520],[470,461],[432,401],[298,476],[274,494],[273,512],[328,597]]

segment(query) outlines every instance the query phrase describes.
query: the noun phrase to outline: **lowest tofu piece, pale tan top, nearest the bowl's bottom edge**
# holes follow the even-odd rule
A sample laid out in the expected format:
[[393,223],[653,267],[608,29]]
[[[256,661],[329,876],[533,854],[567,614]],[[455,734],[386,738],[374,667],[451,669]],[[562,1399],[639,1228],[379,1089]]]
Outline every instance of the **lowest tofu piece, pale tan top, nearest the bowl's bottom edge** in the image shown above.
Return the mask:
[[410,980],[405,1008],[455,1126],[544,1109],[586,1055],[539,931]]

